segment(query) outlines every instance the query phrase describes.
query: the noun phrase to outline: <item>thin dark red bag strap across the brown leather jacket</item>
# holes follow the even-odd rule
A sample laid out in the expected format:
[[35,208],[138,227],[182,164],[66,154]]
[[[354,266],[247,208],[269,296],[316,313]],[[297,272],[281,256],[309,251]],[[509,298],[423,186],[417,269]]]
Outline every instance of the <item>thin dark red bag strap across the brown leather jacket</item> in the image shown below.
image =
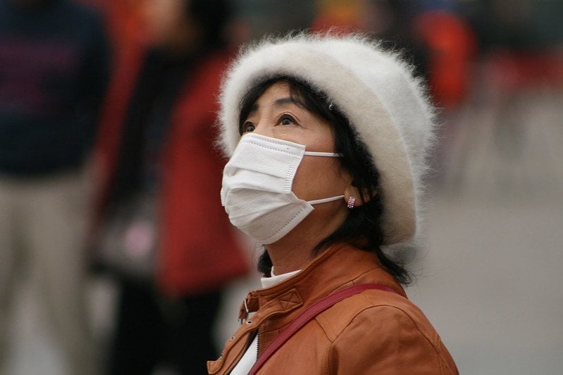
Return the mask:
[[348,288],[344,288],[341,291],[327,295],[325,298],[318,300],[316,303],[309,306],[307,310],[299,314],[299,317],[291,322],[286,329],[284,329],[278,336],[276,336],[276,338],[273,339],[272,343],[268,345],[268,348],[264,350],[256,363],[254,363],[254,366],[252,366],[252,369],[250,369],[248,375],[256,374],[256,372],[262,367],[262,365],[266,363],[266,361],[281,347],[281,345],[289,340],[291,336],[293,336],[297,331],[299,331],[299,329],[302,328],[302,326],[310,322],[318,314],[328,309],[328,307],[334,305],[335,303],[338,303],[341,300],[345,300],[346,298],[354,294],[361,293],[362,291],[366,291],[368,289],[379,289],[381,291],[397,293],[397,291],[393,290],[392,288],[381,284],[359,284],[349,286]]

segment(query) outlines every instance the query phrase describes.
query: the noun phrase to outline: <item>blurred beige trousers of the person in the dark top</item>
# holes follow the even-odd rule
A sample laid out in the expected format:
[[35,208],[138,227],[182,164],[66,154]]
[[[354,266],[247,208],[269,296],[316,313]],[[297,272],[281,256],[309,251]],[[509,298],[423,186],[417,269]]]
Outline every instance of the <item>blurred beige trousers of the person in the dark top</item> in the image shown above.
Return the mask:
[[69,374],[92,374],[83,250],[87,188],[84,172],[37,179],[0,175],[0,374],[13,291],[23,274],[31,277]]

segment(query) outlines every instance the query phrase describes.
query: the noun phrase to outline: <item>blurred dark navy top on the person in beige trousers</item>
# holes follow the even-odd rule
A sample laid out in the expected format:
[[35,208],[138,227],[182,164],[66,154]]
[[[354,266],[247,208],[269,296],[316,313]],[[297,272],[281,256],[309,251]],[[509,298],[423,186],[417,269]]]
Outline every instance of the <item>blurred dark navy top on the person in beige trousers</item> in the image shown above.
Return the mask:
[[66,0],[0,0],[0,173],[80,167],[108,77],[101,19]]

